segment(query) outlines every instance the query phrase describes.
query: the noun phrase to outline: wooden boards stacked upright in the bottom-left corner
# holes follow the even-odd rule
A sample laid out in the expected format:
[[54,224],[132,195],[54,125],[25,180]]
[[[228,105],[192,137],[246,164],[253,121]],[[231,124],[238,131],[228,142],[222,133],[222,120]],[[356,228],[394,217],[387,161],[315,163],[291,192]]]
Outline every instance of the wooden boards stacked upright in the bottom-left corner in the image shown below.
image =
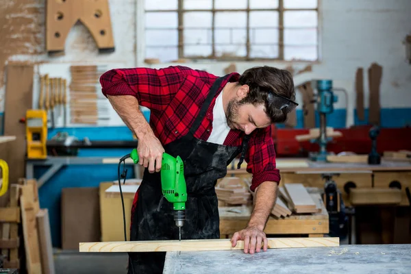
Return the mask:
[[[10,185],[9,191],[10,206],[0,208],[3,268],[19,269],[28,274],[55,273],[49,214],[47,209],[40,208],[36,180],[19,179],[18,184]],[[18,234],[19,225],[22,238]],[[25,263],[21,264],[18,249],[23,244]],[[23,271],[22,265],[27,271]]]

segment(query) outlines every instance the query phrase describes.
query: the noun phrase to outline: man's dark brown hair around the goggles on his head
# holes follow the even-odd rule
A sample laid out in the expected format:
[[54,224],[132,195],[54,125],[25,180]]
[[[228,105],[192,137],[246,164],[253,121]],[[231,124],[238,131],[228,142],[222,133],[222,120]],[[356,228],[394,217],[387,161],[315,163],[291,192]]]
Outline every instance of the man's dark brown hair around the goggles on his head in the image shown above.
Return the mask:
[[294,81],[289,71],[272,66],[256,66],[242,73],[238,83],[249,86],[249,93],[240,101],[241,104],[258,105],[264,103],[265,112],[271,119],[271,123],[284,123],[286,121],[285,109],[275,108],[273,104],[269,103],[267,96],[269,92],[273,92],[295,101]]

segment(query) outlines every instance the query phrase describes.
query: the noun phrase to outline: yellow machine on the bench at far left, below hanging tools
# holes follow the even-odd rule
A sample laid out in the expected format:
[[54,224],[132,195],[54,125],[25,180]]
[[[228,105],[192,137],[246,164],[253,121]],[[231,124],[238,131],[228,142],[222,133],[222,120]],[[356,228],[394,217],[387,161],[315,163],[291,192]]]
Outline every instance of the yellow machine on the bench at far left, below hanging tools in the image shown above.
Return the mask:
[[47,112],[27,110],[26,112],[27,158],[47,158]]

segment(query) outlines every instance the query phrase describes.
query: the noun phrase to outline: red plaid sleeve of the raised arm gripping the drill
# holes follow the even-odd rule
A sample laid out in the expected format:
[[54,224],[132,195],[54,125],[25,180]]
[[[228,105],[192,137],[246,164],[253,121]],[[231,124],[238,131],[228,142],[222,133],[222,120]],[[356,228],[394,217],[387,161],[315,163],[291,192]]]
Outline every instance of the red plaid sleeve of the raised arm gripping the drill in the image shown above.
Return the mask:
[[132,95],[150,110],[164,110],[184,80],[178,66],[164,69],[112,69],[103,73],[103,95]]

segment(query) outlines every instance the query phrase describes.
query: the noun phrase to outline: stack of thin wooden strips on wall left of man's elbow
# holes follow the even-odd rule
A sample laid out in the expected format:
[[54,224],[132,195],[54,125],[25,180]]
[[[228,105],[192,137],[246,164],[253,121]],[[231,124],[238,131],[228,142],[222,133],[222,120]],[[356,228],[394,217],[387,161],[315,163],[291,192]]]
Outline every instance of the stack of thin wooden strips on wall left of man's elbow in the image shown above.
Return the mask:
[[71,66],[71,123],[97,124],[97,66]]

